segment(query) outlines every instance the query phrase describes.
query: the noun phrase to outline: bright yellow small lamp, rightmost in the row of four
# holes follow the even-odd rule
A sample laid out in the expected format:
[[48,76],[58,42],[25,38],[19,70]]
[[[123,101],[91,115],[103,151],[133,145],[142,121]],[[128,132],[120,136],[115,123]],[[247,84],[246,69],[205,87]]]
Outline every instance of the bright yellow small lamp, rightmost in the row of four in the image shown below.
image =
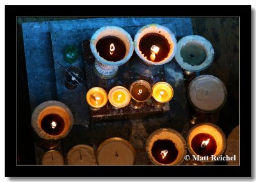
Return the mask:
[[156,108],[162,108],[173,98],[173,88],[166,82],[157,82],[152,87],[152,100],[153,105]]

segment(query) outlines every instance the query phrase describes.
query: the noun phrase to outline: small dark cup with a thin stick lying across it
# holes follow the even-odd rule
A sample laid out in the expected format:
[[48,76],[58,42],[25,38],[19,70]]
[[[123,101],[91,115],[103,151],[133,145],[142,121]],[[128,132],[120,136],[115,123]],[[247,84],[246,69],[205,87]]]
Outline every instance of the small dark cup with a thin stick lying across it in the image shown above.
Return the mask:
[[83,79],[84,73],[77,66],[70,66],[67,70],[69,73],[67,71],[64,73],[65,87],[67,87],[67,89],[75,89],[77,85],[81,83],[81,78]]

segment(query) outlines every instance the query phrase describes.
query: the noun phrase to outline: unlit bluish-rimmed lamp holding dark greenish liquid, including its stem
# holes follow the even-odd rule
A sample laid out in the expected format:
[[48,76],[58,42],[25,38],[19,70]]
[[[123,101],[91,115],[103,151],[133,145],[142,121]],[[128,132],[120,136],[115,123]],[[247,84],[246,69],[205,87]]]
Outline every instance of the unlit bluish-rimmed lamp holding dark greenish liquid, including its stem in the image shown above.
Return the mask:
[[214,58],[214,49],[211,43],[202,36],[184,36],[177,43],[175,59],[184,69],[186,80],[195,77],[194,72],[208,68]]

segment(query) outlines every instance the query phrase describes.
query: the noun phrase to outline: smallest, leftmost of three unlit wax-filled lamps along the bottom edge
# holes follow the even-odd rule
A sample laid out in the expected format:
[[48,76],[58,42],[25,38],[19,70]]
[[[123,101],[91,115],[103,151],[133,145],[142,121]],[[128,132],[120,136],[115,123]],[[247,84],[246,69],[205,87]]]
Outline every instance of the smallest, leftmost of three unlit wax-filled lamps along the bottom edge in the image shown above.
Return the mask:
[[63,155],[56,150],[50,150],[44,153],[42,165],[64,165]]

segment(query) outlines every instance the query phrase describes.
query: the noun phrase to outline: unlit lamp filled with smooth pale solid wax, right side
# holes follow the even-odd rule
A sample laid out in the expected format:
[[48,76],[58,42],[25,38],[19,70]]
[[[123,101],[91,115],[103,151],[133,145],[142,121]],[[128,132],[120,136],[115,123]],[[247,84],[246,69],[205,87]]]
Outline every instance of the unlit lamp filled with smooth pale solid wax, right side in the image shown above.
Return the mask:
[[225,102],[226,88],[212,75],[196,77],[189,86],[189,97],[198,109],[212,111],[219,109]]

